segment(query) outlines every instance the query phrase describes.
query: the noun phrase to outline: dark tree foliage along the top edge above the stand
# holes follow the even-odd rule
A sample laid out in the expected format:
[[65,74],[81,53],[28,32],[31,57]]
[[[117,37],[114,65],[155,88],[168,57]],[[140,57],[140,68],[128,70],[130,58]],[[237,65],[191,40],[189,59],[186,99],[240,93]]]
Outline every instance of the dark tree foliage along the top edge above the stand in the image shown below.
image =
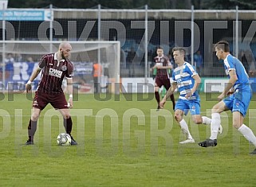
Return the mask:
[[135,9],[148,5],[150,9],[191,9],[198,10],[229,10],[238,6],[239,10],[255,10],[253,0],[9,0],[10,8],[45,8],[50,4],[56,8],[93,8],[99,4],[102,8]]

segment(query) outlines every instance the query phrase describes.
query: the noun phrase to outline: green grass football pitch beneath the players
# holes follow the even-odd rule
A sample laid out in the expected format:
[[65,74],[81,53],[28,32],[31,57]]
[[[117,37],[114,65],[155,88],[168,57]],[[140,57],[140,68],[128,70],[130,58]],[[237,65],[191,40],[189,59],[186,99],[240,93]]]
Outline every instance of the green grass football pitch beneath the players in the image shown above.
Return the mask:
[[[33,95],[32,95],[33,96]],[[175,97],[177,98],[177,94]],[[211,117],[216,94],[201,97],[202,115]],[[31,95],[0,95],[0,186],[256,186],[256,155],[223,113],[218,146],[203,148],[210,127],[185,117],[194,144],[175,122],[171,101],[156,111],[153,95],[76,95],[73,137],[78,146],[57,146],[64,131],[50,105],[41,112],[35,145],[24,146]],[[256,134],[256,99],[245,124]]]

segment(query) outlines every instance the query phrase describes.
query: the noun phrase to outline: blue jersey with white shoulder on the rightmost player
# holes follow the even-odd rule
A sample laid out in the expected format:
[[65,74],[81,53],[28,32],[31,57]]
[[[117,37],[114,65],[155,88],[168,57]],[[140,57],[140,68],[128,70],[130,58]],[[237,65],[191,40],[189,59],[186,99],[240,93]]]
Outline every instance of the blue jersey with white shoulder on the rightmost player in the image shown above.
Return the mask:
[[232,55],[226,56],[224,60],[224,68],[226,75],[230,78],[230,70],[235,70],[238,80],[234,84],[234,89],[242,89],[244,86],[249,86],[249,76],[246,73],[246,69],[242,65],[242,62]]

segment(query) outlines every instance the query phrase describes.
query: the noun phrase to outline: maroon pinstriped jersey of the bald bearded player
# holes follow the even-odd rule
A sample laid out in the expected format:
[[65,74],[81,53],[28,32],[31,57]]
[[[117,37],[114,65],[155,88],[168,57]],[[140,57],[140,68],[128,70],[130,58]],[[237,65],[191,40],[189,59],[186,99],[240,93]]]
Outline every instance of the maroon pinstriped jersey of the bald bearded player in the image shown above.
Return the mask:
[[38,92],[48,94],[62,93],[62,80],[73,76],[73,64],[69,60],[57,60],[57,53],[41,57],[39,68],[42,69]]

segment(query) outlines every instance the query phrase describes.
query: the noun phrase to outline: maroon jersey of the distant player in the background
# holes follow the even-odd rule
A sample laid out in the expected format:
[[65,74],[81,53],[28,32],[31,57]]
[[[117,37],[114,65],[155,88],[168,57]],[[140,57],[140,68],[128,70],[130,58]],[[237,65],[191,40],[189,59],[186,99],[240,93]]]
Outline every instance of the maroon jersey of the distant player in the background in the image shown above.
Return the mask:
[[[168,59],[167,56],[156,56],[154,58],[156,64],[160,65],[160,66],[169,66],[171,65],[170,60]],[[157,69],[157,73],[156,73],[156,78],[165,80],[165,79],[169,79],[169,74],[167,69]]]

